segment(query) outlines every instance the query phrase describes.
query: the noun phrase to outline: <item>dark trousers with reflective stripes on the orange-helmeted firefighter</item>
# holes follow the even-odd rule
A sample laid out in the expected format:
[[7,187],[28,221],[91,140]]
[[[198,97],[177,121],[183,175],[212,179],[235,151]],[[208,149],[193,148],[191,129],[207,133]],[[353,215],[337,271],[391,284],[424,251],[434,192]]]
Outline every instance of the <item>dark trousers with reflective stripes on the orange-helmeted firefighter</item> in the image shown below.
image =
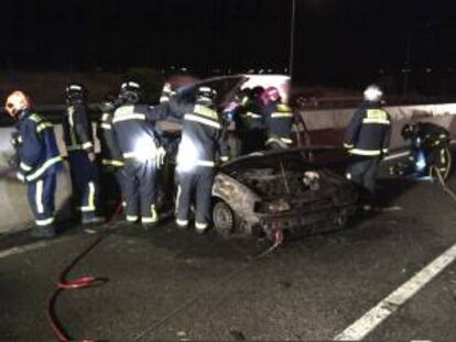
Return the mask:
[[52,227],[55,211],[55,174],[45,175],[28,184],[28,199],[37,227]]

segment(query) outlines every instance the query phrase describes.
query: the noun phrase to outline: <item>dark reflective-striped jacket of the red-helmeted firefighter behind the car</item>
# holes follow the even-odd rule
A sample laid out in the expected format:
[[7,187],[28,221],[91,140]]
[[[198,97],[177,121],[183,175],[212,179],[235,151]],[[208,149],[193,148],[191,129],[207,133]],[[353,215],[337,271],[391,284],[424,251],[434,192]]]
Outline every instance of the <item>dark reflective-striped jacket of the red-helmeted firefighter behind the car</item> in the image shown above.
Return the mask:
[[284,147],[291,146],[293,140],[292,123],[293,112],[287,104],[272,102],[264,108],[264,117],[268,129],[267,145],[276,143]]

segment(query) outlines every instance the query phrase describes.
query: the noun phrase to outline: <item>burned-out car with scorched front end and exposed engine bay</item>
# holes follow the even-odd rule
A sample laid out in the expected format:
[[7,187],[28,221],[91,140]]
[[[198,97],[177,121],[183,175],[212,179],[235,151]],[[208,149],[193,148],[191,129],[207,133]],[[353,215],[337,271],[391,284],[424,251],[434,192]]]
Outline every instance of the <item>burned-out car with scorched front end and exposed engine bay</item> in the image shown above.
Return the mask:
[[334,169],[330,163],[308,162],[298,148],[227,163],[213,187],[215,229],[224,236],[270,239],[278,230],[301,235],[341,229],[357,209],[358,189]]

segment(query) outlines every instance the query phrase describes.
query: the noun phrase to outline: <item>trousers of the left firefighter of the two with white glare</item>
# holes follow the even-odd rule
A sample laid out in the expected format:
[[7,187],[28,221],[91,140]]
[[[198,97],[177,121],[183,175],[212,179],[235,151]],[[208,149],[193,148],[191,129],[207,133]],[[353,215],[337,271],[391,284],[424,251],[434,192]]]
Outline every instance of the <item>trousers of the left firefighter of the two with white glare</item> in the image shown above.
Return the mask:
[[154,159],[139,161],[128,158],[123,166],[122,190],[126,196],[127,221],[138,220],[141,208],[142,223],[155,223],[158,216],[156,203],[156,163]]

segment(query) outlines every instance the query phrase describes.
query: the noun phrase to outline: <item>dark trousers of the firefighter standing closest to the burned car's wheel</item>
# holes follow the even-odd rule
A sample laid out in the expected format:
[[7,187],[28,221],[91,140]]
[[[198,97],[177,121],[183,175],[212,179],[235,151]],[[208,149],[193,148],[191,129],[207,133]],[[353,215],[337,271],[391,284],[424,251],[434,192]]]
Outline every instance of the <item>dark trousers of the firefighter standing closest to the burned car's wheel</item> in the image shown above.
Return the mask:
[[192,172],[177,170],[177,224],[188,224],[188,210],[192,203],[192,190],[194,190],[196,197],[195,228],[206,229],[210,222],[210,199],[213,196],[214,167],[198,166]]

